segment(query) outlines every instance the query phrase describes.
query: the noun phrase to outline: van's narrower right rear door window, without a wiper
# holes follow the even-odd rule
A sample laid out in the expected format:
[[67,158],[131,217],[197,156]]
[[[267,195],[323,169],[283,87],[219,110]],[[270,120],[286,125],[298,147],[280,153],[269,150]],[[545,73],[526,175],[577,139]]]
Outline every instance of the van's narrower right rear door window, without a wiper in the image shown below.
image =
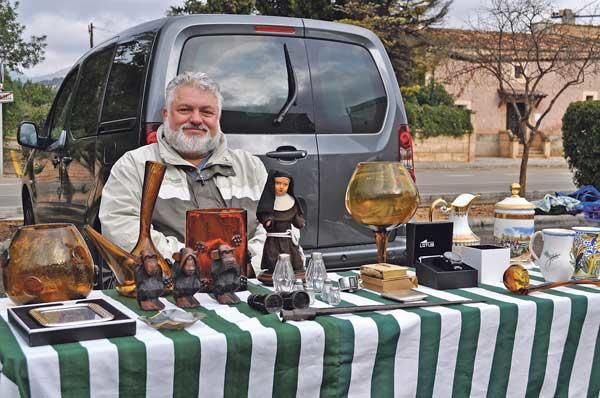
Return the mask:
[[383,124],[387,97],[373,58],[364,47],[307,40],[317,133],[368,134]]

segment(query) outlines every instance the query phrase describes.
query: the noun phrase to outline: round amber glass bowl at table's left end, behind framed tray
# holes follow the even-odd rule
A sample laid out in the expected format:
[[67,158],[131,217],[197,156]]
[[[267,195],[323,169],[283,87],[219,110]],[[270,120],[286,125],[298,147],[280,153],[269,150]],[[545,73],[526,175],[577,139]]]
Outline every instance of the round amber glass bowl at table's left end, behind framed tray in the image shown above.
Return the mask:
[[2,276],[16,304],[74,300],[92,290],[94,261],[73,224],[28,225],[15,232]]

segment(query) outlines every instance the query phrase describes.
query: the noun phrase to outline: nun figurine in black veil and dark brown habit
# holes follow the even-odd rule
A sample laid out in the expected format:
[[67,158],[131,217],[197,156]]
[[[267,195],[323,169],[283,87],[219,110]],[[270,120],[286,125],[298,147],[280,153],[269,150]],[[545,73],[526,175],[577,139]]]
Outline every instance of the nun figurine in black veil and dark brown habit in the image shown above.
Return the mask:
[[[294,272],[304,271],[303,256],[297,238],[292,234],[292,225],[304,227],[304,211],[294,196],[292,176],[271,170],[256,211],[258,221],[267,230],[261,268],[265,274],[273,274],[280,254],[290,255]],[[260,278],[259,278],[260,279]]]

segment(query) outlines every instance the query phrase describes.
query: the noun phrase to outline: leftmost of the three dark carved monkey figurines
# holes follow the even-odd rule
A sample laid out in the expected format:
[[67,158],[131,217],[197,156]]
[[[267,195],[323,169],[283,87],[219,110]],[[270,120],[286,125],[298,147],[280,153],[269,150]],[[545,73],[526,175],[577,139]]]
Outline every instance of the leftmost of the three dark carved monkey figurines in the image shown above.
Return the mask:
[[135,268],[137,301],[144,311],[160,311],[165,305],[159,297],[164,294],[163,275],[156,254],[143,250],[141,264]]

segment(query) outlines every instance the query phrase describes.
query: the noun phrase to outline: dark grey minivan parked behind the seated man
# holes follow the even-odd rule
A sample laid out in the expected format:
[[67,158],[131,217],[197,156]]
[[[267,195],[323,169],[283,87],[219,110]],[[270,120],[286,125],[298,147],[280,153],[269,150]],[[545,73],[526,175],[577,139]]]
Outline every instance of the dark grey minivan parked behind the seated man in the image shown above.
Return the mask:
[[[310,19],[191,15],[148,22],[102,43],[65,77],[23,177],[26,223],[94,225],[110,168],[161,122],[167,82],[204,71],[223,92],[229,145],[295,177],[307,207],[302,246],[328,268],[376,258],[373,234],[345,210],[361,161],[398,160],[408,131],[400,89],[380,40],[351,25]],[[404,240],[389,246],[390,261]]]

